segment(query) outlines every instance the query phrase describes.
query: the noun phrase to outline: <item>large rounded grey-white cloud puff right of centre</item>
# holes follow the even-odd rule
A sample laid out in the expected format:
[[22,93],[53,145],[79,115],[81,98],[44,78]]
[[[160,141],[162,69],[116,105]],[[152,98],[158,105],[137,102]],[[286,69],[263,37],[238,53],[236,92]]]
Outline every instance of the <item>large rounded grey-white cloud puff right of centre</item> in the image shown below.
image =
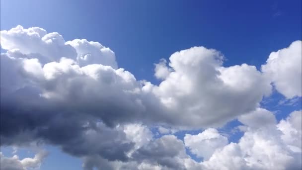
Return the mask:
[[172,54],[166,69],[163,63],[157,65],[160,70],[173,70],[160,85],[153,86],[153,93],[168,109],[166,114],[177,114],[178,119],[170,120],[173,124],[220,126],[255,109],[270,94],[270,82],[256,67],[223,67],[223,59],[214,49],[193,47]]

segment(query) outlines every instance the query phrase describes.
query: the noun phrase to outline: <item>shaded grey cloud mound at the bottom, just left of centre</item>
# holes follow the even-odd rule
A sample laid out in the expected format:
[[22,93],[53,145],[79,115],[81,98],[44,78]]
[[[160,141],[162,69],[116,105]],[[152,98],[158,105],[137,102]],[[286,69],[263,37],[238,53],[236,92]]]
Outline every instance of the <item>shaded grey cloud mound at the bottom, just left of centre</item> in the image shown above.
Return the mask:
[[189,158],[181,140],[174,135],[152,139],[130,156],[128,162],[108,161],[99,156],[84,159],[84,170],[93,167],[106,170],[184,170],[182,159]]

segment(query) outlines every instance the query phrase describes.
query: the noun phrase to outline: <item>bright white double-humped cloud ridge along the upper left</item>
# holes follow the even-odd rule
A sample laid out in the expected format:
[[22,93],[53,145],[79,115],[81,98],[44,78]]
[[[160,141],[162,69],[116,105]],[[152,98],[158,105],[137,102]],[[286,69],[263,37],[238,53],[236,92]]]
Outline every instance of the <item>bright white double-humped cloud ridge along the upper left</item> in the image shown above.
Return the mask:
[[103,64],[117,68],[114,52],[100,43],[85,39],[65,42],[59,33],[47,33],[38,27],[24,29],[18,25],[8,31],[3,30],[0,43],[2,49],[18,49],[27,57],[38,58],[43,64],[66,57],[76,60],[80,66]]

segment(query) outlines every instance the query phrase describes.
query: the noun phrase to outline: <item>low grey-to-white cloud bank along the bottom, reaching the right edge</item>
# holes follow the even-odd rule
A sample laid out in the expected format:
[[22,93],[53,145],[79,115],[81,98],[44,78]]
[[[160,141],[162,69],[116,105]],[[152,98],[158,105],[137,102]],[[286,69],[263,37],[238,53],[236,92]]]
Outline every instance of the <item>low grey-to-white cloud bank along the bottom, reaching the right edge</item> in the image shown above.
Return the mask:
[[[294,111],[277,123],[272,112],[257,108],[240,117],[246,128],[238,143],[228,143],[226,137],[210,128],[197,135],[186,134],[184,142],[174,135],[151,139],[130,156],[129,162],[91,157],[84,165],[108,170],[300,170],[302,151],[297,140],[301,140],[302,128],[297,125],[301,114]],[[263,124],[255,126],[261,117],[265,118]],[[205,159],[196,162],[186,154],[185,147]]]

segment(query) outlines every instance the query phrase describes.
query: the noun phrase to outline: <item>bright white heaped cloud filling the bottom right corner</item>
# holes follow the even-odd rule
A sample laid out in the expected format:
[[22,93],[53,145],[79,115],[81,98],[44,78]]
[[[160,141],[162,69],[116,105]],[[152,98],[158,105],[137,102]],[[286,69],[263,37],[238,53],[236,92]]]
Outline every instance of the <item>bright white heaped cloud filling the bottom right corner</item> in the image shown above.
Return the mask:
[[[208,161],[187,162],[187,168],[190,170],[300,170],[301,145],[297,146],[300,150],[293,151],[285,136],[290,135],[291,131],[301,131],[301,124],[296,127],[295,123],[290,121],[294,116],[301,117],[301,114],[301,111],[293,112],[287,120],[276,124],[275,116],[268,110],[257,109],[250,112],[239,119],[246,128],[238,143],[230,143],[223,148],[218,148]],[[265,117],[265,121],[262,121],[264,124],[254,126],[260,116]],[[280,126],[284,123],[289,125],[283,126],[284,129],[280,131]],[[293,141],[300,137],[293,136]],[[295,144],[299,143],[295,142]]]

